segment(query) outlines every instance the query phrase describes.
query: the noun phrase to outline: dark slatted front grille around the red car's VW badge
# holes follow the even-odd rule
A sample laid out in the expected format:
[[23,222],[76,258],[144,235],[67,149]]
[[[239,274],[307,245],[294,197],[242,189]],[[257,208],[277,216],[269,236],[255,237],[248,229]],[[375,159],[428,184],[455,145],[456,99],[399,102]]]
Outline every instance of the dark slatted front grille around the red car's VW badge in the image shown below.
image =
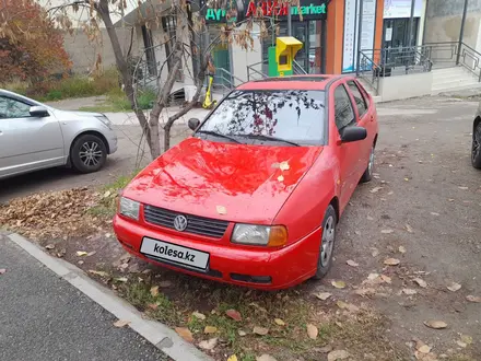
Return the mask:
[[213,220],[210,218],[177,213],[163,208],[153,206],[143,207],[145,222],[175,230],[174,219],[177,216],[187,218],[187,228],[184,232],[207,235],[213,238],[222,238],[228,226],[227,221]]

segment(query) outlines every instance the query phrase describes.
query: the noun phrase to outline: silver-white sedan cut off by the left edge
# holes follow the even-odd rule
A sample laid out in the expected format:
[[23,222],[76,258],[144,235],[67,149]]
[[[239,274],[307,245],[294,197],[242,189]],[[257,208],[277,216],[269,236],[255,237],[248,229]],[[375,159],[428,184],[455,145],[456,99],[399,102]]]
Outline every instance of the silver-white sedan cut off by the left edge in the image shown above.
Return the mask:
[[96,172],[116,150],[105,115],[59,110],[0,90],[0,178],[61,165]]

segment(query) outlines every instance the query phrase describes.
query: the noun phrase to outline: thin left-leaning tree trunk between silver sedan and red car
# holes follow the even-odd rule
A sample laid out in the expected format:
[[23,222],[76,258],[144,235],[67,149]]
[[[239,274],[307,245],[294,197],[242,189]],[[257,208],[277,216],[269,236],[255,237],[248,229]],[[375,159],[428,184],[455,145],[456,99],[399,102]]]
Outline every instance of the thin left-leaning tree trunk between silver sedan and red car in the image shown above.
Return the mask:
[[[145,135],[149,149],[151,151],[152,159],[156,159],[161,155],[161,139],[159,137],[159,117],[157,121],[151,124],[148,121],[145,114],[137,106],[136,93],[133,89],[133,80],[130,74],[127,59],[124,57],[120,42],[117,36],[117,32],[110,19],[110,13],[108,10],[108,1],[101,0],[97,5],[97,11],[105,24],[108,37],[110,39],[112,48],[114,50],[115,61],[117,65],[117,70],[120,73],[124,81],[124,92],[129,100],[130,106],[136,113],[137,119],[142,128],[142,133]],[[140,147],[140,144],[139,144]]]

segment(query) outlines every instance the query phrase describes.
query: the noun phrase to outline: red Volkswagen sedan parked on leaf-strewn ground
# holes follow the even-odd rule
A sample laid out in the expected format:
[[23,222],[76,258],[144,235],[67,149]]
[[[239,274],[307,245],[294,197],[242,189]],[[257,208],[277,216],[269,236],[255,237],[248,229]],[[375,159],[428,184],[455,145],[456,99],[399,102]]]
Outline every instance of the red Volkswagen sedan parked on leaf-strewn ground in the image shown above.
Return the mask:
[[155,265],[259,289],[324,277],[372,177],[374,102],[356,79],[273,78],[225,96],[122,191],[114,229]]

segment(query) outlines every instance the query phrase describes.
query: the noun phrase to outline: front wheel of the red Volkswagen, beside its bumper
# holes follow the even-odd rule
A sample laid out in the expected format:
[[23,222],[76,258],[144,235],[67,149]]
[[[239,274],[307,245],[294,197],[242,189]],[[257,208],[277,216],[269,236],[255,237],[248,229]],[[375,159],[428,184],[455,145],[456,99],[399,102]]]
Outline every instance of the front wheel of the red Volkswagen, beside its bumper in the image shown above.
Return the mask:
[[329,271],[332,264],[332,254],[335,252],[336,243],[336,225],[338,223],[338,217],[332,205],[326,210],[322,220],[322,235],[319,245],[319,256],[317,258],[317,271],[314,275],[314,279],[322,279]]

